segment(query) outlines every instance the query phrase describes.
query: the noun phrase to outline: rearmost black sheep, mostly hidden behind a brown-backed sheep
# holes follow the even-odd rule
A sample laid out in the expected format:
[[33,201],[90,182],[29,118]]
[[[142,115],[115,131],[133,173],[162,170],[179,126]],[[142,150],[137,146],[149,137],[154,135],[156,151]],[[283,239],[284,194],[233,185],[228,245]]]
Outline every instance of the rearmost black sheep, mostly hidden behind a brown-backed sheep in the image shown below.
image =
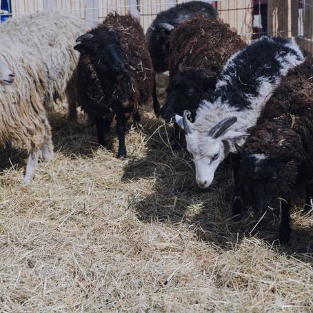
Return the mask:
[[173,8],[157,14],[146,35],[154,70],[157,73],[165,72],[169,69],[168,37],[170,33],[180,23],[192,19],[196,14],[203,14],[207,18],[213,18],[216,17],[216,10],[209,3],[190,1],[177,4]]

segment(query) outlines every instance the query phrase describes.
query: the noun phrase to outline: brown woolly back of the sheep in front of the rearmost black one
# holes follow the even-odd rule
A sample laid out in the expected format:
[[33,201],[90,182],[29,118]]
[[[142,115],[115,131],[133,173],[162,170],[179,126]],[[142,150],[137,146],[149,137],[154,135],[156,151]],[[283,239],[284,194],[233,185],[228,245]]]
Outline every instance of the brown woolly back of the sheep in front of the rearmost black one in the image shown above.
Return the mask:
[[241,37],[226,23],[201,15],[177,26],[170,35],[170,77],[179,65],[219,77],[228,59],[245,48]]

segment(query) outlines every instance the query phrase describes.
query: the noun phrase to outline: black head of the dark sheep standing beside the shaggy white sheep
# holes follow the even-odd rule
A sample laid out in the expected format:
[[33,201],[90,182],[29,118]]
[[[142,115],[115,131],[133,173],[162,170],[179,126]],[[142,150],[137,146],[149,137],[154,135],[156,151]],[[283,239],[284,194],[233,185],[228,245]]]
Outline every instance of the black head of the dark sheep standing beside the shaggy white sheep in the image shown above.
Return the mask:
[[[88,36],[89,34],[89,36]],[[75,50],[88,54],[99,72],[119,76],[125,72],[121,44],[114,30],[109,30],[105,38],[92,32],[77,39]]]

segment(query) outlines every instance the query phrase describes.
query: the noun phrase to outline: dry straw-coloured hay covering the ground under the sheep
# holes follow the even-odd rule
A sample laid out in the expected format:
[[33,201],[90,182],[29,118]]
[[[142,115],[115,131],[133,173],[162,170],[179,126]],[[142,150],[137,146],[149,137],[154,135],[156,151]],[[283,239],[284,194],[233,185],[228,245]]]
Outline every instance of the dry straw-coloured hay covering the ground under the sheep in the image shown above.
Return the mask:
[[272,214],[230,221],[227,165],[199,190],[188,153],[142,117],[117,159],[114,128],[105,150],[58,110],[56,156],[29,186],[25,155],[1,150],[0,312],[312,312],[313,216],[294,210],[287,248]]

